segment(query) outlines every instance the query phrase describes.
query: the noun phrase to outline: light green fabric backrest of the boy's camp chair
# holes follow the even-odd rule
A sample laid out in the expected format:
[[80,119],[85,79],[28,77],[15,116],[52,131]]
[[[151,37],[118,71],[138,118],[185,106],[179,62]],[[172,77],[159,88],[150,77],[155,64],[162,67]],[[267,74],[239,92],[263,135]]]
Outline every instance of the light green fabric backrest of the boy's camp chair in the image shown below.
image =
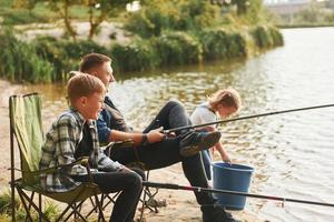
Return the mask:
[[[39,179],[30,172],[39,169],[38,164],[43,143],[41,99],[39,94],[11,95],[9,98],[9,113],[11,137],[12,134],[16,135],[20,150],[22,179],[26,183],[35,184]],[[13,148],[11,150],[13,151]],[[11,155],[13,155],[13,152],[11,152]],[[13,157],[11,160],[13,160]]]

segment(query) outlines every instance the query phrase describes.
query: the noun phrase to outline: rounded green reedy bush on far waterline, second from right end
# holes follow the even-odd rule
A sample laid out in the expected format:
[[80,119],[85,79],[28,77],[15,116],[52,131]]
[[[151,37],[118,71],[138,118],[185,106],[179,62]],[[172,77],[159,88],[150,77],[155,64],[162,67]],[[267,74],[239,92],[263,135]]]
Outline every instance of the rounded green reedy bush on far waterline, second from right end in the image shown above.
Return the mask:
[[224,29],[202,32],[204,59],[216,60],[246,56],[246,40],[239,33],[229,33]]

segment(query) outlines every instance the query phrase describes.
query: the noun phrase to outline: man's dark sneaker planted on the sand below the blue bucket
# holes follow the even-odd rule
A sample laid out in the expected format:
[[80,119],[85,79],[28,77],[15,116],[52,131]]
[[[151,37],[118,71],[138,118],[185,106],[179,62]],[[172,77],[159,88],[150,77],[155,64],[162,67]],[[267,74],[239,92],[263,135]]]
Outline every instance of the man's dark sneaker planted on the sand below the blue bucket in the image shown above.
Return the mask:
[[215,208],[210,211],[203,212],[203,222],[242,222],[233,218],[223,208]]

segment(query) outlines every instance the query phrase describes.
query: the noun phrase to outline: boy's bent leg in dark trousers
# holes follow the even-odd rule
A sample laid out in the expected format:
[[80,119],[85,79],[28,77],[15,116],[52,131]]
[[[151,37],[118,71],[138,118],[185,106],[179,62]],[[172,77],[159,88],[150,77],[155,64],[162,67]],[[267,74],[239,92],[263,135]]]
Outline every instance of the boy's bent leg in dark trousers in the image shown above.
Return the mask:
[[[89,181],[88,175],[72,176],[77,181]],[[128,169],[120,172],[92,173],[92,180],[104,193],[121,191],[117,198],[110,221],[132,221],[143,190],[141,176]]]

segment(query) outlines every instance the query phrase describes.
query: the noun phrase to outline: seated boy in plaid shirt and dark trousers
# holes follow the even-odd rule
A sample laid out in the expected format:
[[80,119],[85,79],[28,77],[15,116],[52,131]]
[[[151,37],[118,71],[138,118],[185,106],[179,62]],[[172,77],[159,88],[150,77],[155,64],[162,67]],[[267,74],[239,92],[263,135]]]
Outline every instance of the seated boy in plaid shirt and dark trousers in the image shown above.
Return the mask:
[[[110,221],[132,221],[141,193],[141,178],[118,162],[111,161],[99,148],[96,120],[105,98],[105,85],[96,77],[79,73],[67,85],[70,108],[63,112],[47,133],[42,147],[40,169],[69,164],[79,157],[89,157],[95,171],[94,182],[104,193],[122,191]],[[143,173],[143,172],[139,172]],[[63,192],[89,181],[82,165],[67,171],[41,175],[41,185],[51,192]]]

